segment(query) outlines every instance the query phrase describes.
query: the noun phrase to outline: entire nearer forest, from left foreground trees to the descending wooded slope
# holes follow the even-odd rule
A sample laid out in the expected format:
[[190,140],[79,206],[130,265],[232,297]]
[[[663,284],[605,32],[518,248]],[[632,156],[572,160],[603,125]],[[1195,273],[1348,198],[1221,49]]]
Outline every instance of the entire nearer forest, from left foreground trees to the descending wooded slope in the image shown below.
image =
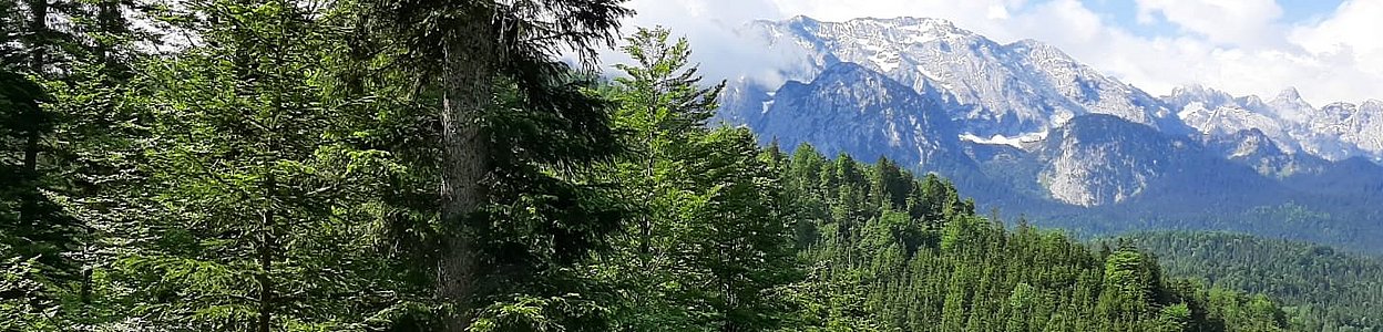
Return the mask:
[[4,331],[1283,326],[938,177],[712,129],[723,84],[667,30],[613,82],[555,61],[620,1],[0,10]]

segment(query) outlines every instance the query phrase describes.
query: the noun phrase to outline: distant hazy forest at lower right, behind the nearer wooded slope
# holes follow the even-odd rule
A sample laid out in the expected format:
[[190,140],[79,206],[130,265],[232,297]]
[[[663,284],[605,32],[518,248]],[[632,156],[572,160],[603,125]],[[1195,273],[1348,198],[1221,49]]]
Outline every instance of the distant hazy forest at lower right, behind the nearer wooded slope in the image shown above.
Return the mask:
[[1141,232],[1167,274],[1279,299],[1301,331],[1383,331],[1383,261],[1328,246],[1225,232]]

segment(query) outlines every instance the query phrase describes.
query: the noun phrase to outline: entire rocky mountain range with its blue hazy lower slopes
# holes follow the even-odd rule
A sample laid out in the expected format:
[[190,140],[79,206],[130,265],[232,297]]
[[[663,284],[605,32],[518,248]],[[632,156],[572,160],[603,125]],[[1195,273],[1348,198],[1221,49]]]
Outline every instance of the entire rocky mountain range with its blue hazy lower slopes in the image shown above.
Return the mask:
[[[935,18],[808,17],[737,33],[795,54],[718,115],[791,149],[888,158],[1051,225],[1231,228],[1379,249],[1383,102],[1314,107],[1203,86],[1152,94],[1037,40]],[[1318,230],[1297,230],[1307,223]]]

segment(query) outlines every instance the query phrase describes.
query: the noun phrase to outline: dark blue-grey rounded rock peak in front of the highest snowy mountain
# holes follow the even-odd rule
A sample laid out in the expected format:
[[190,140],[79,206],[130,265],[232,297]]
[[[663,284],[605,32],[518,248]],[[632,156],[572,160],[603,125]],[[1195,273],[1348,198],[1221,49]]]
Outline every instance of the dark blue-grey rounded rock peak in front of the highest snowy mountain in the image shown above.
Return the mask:
[[968,165],[936,101],[852,62],[837,62],[810,83],[788,82],[762,112],[741,116],[784,147],[812,142],[830,155],[920,167]]

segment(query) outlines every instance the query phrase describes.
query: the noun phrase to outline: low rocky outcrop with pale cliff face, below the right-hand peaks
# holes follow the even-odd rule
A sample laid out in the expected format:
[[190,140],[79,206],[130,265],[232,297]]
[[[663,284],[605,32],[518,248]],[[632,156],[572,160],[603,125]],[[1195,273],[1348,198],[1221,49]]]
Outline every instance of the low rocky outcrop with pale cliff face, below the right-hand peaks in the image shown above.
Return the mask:
[[[1199,142],[1111,115],[1086,115],[1058,127],[1036,151],[1039,181],[1057,201],[1106,206],[1194,196],[1224,206],[1274,203],[1285,188],[1221,159]],[[1259,195],[1243,195],[1253,190]],[[1264,199],[1260,199],[1264,198]],[[1181,201],[1181,199],[1176,199]],[[1182,203],[1198,206],[1198,203]]]

